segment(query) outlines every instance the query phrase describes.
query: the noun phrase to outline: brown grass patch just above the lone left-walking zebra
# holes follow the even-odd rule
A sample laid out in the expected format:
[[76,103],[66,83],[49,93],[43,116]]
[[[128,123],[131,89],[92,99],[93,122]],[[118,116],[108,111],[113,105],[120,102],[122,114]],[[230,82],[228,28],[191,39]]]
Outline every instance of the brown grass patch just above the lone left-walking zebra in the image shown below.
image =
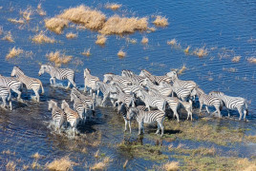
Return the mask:
[[49,61],[53,62],[55,66],[61,66],[62,64],[68,64],[73,56],[67,56],[65,53],[61,54],[60,51],[51,51],[46,54]]

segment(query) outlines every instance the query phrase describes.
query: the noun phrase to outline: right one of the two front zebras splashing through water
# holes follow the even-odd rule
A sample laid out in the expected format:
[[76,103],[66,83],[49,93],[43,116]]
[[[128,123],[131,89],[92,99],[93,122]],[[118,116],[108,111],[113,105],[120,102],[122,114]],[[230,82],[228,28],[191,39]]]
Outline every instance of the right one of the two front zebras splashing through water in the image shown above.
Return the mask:
[[62,101],[61,109],[63,109],[67,115],[67,122],[71,124],[73,137],[75,137],[75,127],[79,122],[80,117],[76,111],[70,108],[70,105],[65,100]]

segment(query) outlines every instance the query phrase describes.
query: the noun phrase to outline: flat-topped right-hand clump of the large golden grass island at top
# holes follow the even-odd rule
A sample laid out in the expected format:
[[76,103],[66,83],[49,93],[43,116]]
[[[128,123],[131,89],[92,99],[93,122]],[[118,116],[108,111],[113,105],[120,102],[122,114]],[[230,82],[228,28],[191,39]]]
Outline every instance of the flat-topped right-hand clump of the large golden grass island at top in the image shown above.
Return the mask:
[[110,17],[103,25],[103,28],[99,30],[102,34],[123,34],[133,33],[136,30],[146,30],[148,28],[147,18],[136,17],[119,17],[114,15]]

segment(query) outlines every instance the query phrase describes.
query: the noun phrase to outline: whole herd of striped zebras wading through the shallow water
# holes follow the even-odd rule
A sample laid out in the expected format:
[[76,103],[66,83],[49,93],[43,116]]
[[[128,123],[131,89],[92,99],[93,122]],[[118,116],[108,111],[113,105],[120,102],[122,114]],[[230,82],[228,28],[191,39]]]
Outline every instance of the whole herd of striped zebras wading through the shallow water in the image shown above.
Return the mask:
[[[158,123],[156,134],[161,131],[163,135],[163,121],[166,116],[166,110],[171,110],[174,117],[179,118],[179,109],[184,108],[187,112],[187,120],[192,121],[192,104],[198,97],[201,112],[203,104],[206,111],[209,113],[208,106],[214,106],[221,118],[221,110],[225,106],[229,109],[237,109],[242,119],[244,112],[247,114],[247,104],[244,98],[231,97],[220,91],[211,91],[206,94],[202,88],[193,81],[183,81],[178,78],[176,70],[170,71],[163,76],[152,75],[146,69],[142,69],[139,75],[131,70],[122,70],[121,75],[114,73],[104,74],[104,79],[101,82],[98,77],[91,74],[89,68],[84,69],[84,91],[89,88],[90,95],[81,93],[75,85],[75,71],[70,68],[57,68],[49,65],[42,65],[38,75],[44,73],[51,75],[50,84],[55,85],[55,79],[67,80],[69,88],[72,84],[74,87],[71,90],[71,102],[74,103],[72,109],[70,105],[63,100],[61,107],[53,100],[48,101],[49,110],[52,110],[53,123],[55,129],[60,130],[63,123],[69,123],[73,129],[75,136],[75,127],[77,123],[85,123],[87,118],[95,112],[96,98],[99,92],[103,94],[101,105],[104,106],[107,99],[110,100],[114,107],[117,107],[117,112],[122,115],[127,130],[127,123],[131,132],[131,120],[137,120],[139,123],[139,134],[143,129],[143,123]],[[0,75],[0,96],[2,97],[2,106],[6,108],[7,101],[11,104],[11,90],[17,93],[17,100],[21,99],[21,90],[23,87],[32,89],[36,96],[36,101],[40,101],[39,88],[44,93],[44,88],[40,80],[29,77],[18,67],[14,66],[11,71],[12,77]]]

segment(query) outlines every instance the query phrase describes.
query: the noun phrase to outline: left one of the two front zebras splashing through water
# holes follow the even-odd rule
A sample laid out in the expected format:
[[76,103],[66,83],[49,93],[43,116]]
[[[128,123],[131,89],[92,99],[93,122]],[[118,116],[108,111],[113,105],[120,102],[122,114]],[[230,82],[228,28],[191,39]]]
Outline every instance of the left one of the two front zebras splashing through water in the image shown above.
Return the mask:
[[48,110],[52,110],[52,119],[55,125],[55,131],[58,130],[58,133],[60,133],[61,125],[67,120],[65,112],[59,108],[57,103],[53,100],[48,101]]

